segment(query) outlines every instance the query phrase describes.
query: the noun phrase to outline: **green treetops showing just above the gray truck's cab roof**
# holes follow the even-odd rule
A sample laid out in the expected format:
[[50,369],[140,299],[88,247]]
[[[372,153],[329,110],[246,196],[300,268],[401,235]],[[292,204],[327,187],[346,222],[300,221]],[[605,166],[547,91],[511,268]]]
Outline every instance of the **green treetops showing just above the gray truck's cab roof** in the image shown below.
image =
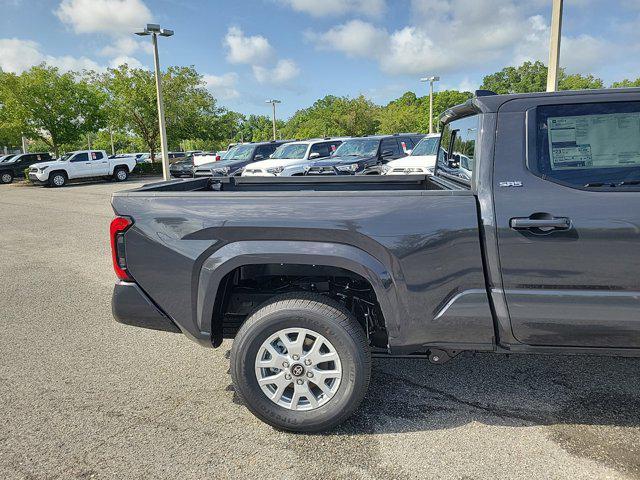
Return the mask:
[[[567,75],[563,68],[558,75],[559,90],[602,88],[604,83],[593,75]],[[547,88],[547,67],[542,62],[525,62],[518,67],[505,67],[484,77],[482,87],[496,93],[544,92]]]

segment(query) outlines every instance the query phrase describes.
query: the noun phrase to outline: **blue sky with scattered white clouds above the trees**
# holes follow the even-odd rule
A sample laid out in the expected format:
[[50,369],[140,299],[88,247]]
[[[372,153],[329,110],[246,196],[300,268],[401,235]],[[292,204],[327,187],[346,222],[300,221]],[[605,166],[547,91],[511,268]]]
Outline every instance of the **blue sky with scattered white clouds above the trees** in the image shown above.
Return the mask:
[[[0,0],[0,68],[194,65],[221,105],[287,117],[326,95],[384,104],[418,79],[473,89],[483,75],[546,61],[551,0]],[[561,63],[606,83],[640,77],[640,0],[565,0]]]

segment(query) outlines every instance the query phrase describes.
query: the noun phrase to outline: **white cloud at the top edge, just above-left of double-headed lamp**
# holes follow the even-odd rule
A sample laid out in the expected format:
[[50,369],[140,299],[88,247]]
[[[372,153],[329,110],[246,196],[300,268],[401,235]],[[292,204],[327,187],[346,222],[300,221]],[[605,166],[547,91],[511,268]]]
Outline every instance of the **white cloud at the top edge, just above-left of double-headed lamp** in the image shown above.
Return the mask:
[[153,18],[142,0],[62,0],[54,12],[76,33],[131,34]]

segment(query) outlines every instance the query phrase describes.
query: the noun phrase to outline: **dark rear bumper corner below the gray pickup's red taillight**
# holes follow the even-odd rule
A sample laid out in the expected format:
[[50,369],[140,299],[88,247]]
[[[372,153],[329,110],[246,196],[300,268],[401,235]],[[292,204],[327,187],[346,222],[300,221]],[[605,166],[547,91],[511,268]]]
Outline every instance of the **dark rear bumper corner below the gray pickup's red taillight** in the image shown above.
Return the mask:
[[181,333],[135,283],[118,282],[113,288],[111,311],[117,322],[134,327]]

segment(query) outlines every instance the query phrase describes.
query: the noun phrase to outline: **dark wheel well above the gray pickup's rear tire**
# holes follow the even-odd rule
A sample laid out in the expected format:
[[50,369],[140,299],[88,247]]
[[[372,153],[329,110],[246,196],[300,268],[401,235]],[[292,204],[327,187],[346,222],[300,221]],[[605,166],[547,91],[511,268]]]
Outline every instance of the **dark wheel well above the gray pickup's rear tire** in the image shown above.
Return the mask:
[[224,276],[213,310],[213,344],[235,337],[259,305],[288,292],[314,292],[340,302],[358,320],[372,346],[387,347],[384,316],[368,280],[339,267],[280,263],[243,265]]

